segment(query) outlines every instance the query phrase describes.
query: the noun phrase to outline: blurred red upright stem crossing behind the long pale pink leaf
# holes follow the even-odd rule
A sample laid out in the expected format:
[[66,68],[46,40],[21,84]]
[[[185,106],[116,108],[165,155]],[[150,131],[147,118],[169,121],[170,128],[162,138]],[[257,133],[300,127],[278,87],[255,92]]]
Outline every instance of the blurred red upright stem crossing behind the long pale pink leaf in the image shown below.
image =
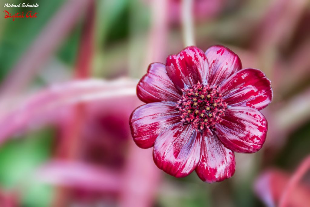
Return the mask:
[[[95,3],[89,0],[86,20],[83,27],[82,40],[76,65],[76,78],[86,79],[91,74],[91,61],[93,57],[94,26],[95,26]],[[84,124],[84,105],[73,107],[72,116],[64,123],[63,134],[60,137],[58,156],[66,160],[78,159],[81,151],[81,129]],[[58,188],[53,205],[55,207],[68,206],[69,191],[62,187]]]

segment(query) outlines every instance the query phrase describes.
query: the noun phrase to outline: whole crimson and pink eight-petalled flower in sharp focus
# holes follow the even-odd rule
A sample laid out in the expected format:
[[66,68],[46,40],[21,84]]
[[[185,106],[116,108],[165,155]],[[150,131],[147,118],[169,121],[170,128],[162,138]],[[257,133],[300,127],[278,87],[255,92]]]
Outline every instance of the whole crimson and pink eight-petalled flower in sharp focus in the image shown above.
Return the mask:
[[242,69],[240,58],[215,45],[195,46],[152,63],[137,85],[146,104],[133,111],[131,133],[141,148],[153,146],[158,168],[175,177],[194,170],[205,182],[235,172],[235,155],[260,150],[267,120],[259,110],[272,101],[263,72]]

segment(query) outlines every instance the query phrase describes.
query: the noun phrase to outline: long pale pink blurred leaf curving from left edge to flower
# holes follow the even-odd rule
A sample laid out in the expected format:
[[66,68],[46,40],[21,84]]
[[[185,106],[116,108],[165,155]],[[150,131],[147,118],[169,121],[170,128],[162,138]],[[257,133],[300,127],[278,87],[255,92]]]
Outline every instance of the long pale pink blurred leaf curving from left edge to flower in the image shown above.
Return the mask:
[[[59,124],[66,114],[70,116],[70,107],[75,104],[112,100],[118,105],[119,97],[134,97],[138,101],[135,87],[136,82],[129,79],[88,79],[55,84],[26,98],[14,109],[0,111],[0,143],[23,130]],[[104,104],[102,109],[106,110]]]

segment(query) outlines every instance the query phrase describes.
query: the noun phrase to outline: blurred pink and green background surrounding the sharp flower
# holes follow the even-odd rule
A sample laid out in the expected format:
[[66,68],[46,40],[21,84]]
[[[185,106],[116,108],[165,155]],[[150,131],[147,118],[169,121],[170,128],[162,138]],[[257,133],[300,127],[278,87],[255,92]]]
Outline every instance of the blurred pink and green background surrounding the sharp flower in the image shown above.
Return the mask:
[[277,206],[296,174],[286,206],[310,206],[308,0],[189,1],[196,45],[229,47],[274,95],[263,148],[213,184],[157,169],[128,125],[148,64],[186,46],[183,1],[0,2],[39,4],[0,18],[0,206]]

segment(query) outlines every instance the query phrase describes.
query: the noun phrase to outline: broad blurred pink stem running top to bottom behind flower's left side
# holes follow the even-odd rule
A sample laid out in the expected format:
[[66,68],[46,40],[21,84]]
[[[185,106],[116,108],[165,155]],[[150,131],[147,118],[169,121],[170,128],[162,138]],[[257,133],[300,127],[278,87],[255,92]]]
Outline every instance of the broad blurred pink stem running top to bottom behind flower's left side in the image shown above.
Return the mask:
[[[166,0],[152,1],[149,55],[145,58],[147,64],[154,61],[162,62],[165,56],[163,51],[165,51],[168,32],[167,3]],[[130,137],[119,205],[121,207],[153,206],[154,195],[157,192],[161,177],[160,173],[153,162],[152,150],[140,149]]]

